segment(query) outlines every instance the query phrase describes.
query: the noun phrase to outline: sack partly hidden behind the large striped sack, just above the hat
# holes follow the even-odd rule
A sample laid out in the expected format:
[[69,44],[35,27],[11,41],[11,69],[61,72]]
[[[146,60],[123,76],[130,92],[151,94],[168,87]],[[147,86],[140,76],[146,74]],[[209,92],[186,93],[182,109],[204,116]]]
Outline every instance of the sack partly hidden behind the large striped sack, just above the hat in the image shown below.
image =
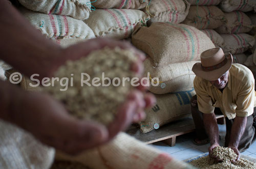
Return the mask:
[[207,35],[210,38],[212,43],[214,43],[215,47],[221,47],[221,48],[225,47],[225,42],[223,38],[215,30],[205,29],[200,31],[205,33],[205,35]]

